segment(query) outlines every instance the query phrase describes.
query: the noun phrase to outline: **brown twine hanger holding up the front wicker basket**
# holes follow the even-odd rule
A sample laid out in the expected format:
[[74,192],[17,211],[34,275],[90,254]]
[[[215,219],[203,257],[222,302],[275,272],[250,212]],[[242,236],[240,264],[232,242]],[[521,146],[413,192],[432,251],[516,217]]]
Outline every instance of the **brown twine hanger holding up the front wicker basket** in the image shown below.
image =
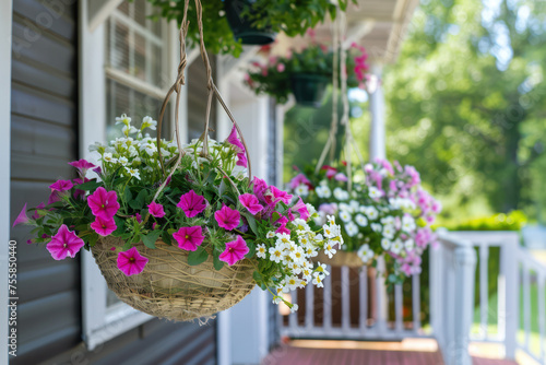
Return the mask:
[[[195,1],[195,10],[197,10],[197,22],[198,22],[198,28],[199,28],[199,37],[200,37],[200,52],[201,52],[201,59],[203,60],[203,63],[206,69],[206,89],[209,90],[207,93],[207,101],[206,101],[206,111],[205,111],[205,122],[204,122],[204,130],[203,134],[201,134],[200,140],[203,141],[203,148],[201,149],[201,157],[204,158],[210,158],[209,154],[209,125],[210,125],[210,118],[211,118],[211,108],[212,108],[212,102],[213,102],[213,96],[216,96],[216,99],[219,102],[222,107],[224,108],[225,113],[232,120],[233,125],[235,126],[242,145],[245,146],[245,153],[247,155],[247,161],[248,161],[248,178],[249,178],[249,184],[251,184],[252,179],[252,167],[250,163],[250,155],[248,153],[248,146],[247,142],[245,141],[245,138],[242,136],[242,132],[239,128],[239,125],[235,120],[235,117],[233,116],[232,111],[227,107],[226,103],[224,102],[222,95],[219,94],[218,89],[216,87],[216,84],[214,83],[214,80],[212,78],[212,67],[211,62],[209,60],[209,55],[206,52],[206,48],[203,42],[203,7],[201,4],[201,0],[194,0]],[[168,90],[167,94],[165,95],[165,99],[163,101],[162,109],[159,113],[159,119],[157,122],[157,160],[159,161],[159,164],[162,166],[162,172],[163,175],[166,177],[163,181],[163,184],[159,186],[157,189],[157,192],[154,196],[154,201],[158,197],[159,192],[165,188],[167,181],[169,180],[169,177],[173,176],[173,174],[176,172],[178,166],[180,165],[180,162],[182,157],[185,156],[186,152],[182,149],[182,145],[180,143],[180,132],[179,132],[179,116],[178,116],[178,110],[180,107],[180,89],[182,85],[186,85],[186,79],[185,79],[185,70],[186,67],[188,66],[188,60],[187,60],[187,52],[186,52],[186,37],[188,35],[188,27],[190,24],[190,21],[188,20],[188,5],[189,5],[189,0],[185,0],[183,4],[183,16],[182,16],[182,22],[180,24],[180,32],[179,32],[179,39],[180,39],[180,62],[178,63],[178,73],[175,83],[170,89]],[[167,108],[167,104],[170,99],[170,96],[173,96],[173,93],[176,93],[176,106],[175,106],[175,134],[176,134],[176,140],[178,144],[178,157],[176,160],[176,163],[174,167],[170,169],[168,176],[165,170],[165,162],[162,156],[162,149],[161,149],[161,133],[162,133],[162,125],[163,125],[163,117],[165,116],[165,110]],[[235,187],[237,190],[236,184],[230,179],[230,177],[221,168],[216,167],[224,176],[227,177],[229,182]],[[238,190],[237,190],[238,191]]]

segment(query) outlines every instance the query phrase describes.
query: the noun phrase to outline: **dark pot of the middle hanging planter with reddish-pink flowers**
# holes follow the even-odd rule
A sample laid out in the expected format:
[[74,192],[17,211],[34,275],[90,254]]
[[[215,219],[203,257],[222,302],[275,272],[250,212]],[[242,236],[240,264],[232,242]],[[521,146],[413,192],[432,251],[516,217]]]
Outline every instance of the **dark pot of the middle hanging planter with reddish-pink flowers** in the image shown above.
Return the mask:
[[296,73],[292,76],[292,92],[301,106],[318,108],[322,104],[330,79],[312,73]]

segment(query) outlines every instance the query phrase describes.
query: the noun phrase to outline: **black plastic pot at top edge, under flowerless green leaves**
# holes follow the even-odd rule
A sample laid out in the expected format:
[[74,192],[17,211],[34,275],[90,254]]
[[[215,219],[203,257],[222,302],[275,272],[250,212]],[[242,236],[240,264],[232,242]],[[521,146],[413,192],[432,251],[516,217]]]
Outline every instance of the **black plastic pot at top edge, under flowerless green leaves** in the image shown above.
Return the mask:
[[252,7],[253,0],[225,0],[226,17],[235,39],[244,45],[269,45],[275,40],[276,34],[270,30],[258,30],[250,21],[241,16],[245,7]]

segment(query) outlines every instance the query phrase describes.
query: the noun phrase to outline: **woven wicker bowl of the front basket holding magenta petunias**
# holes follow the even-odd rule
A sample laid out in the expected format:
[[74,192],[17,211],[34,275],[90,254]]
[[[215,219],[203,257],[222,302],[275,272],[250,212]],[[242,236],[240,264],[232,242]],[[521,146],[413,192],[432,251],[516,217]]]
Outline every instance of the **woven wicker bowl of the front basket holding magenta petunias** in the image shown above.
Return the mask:
[[211,317],[239,303],[256,285],[254,264],[248,259],[218,271],[210,256],[201,264],[189,266],[186,250],[162,240],[156,249],[134,245],[150,261],[140,274],[126,276],[118,269],[118,254],[110,250],[122,245],[116,237],[98,240],[92,248],[95,261],[120,301],[155,317],[175,321]]

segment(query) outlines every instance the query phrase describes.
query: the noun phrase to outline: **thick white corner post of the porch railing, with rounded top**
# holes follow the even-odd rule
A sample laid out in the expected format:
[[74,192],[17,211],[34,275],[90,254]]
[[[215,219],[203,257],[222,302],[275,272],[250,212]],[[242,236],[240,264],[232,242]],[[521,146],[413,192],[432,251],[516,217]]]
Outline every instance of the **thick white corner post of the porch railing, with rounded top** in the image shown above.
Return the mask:
[[[463,245],[464,244],[464,245]],[[470,333],[474,313],[474,281],[476,252],[470,243],[461,243],[454,250],[455,297],[453,317],[454,358],[453,365],[472,365],[468,354]],[[449,314],[446,314],[449,316]]]

